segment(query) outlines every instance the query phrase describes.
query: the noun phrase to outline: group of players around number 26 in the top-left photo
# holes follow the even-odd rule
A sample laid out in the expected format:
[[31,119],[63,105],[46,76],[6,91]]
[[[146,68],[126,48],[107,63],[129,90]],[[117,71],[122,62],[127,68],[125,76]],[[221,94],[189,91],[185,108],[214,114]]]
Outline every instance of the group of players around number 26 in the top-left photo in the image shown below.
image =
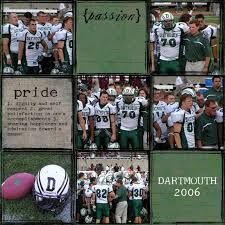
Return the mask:
[[19,20],[9,13],[2,31],[3,74],[72,74],[72,16],[39,11],[36,18],[26,12]]

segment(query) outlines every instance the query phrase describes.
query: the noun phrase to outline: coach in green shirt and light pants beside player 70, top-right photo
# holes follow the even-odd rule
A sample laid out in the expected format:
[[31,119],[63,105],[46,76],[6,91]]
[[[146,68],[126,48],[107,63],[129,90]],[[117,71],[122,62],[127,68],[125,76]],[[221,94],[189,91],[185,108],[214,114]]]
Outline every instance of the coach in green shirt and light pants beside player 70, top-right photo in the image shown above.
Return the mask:
[[192,20],[189,23],[190,33],[183,39],[185,45],[185,57],[187,60],[185,72],[208,73],[210,61],[210,44],[199,32],[199,22]]

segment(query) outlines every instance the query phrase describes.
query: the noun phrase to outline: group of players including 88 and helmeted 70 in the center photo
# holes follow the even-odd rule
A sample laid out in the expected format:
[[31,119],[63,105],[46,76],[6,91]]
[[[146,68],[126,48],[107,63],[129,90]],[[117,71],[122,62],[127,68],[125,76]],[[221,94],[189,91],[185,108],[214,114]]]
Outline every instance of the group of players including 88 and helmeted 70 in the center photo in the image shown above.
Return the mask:
[[83,83],[78,85],[78,89],[79,149],[147,148],[147,89],[119,82],[111,83],[100,91],[91,90]]

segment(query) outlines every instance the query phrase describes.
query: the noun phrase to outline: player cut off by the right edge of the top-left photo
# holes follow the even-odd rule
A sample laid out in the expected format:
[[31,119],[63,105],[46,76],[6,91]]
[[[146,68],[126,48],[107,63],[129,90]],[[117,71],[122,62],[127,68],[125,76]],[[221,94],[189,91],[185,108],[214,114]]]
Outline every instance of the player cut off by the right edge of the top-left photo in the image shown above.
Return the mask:
[[72,56],[73,56],[73,18],[65,17],[63,20],[63,29],[56,33],[57,48],[59,60],[61,62],[60,70],[65,74],[72,74]]

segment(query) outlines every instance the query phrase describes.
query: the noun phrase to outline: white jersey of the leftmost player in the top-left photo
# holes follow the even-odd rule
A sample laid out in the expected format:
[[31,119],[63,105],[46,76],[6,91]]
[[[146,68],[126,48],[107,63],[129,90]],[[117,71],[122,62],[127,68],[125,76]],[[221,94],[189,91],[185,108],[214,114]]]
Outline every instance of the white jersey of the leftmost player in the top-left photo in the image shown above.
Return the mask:
[[23,31],[24,27],[21,23],[18,23],[18,26],[9,23],[3,26],[2,37],[9,38],[9,51],[11,53],[18,54],[19,50],[18,38],[20,37]]

